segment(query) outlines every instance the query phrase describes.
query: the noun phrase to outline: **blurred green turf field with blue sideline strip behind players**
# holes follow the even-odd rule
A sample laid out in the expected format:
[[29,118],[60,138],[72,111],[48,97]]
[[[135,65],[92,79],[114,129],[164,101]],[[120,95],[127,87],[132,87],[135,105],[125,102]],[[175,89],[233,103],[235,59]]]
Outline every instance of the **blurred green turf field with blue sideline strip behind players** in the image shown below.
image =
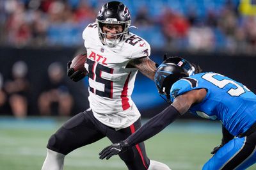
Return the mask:
[[[0,169],[41,169],[45,145],[61,121],[48,118],[13,120],[0,117]],[[172,169],[202,169],[211,150],[220,143],[221,125],[211,121],[176,121],[163,132],[146,141],[148,157],[164,162]],[[113,157],[99,160],[98,153],[109,145],[108,139],[73,151],[65,158],[65,170],[126,169]],[[256,169],[256,166],[250,167]]]

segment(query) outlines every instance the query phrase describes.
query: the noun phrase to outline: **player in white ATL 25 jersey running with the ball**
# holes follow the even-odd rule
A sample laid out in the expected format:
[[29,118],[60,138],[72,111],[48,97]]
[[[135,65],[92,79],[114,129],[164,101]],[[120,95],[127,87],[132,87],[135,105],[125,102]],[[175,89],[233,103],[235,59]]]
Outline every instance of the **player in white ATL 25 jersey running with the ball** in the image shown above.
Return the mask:
[[[150,45],[130,33],[130,26],[128,8],[111,1],[102,6],[96,21],[84,29],[90,109],[68,120],[50,137],[43,170],[63,169],[65,155],[71,151],[104,137],[119,143],[141,127],[140,112],[131,98],[134,81],[138,70],[154,80],[156,63],[148,58]],[[68,76],[73,81],[83,78],[73,68],[68,69]],[[119,156],[128,169],[170,169],[149,160],[144,143]]]

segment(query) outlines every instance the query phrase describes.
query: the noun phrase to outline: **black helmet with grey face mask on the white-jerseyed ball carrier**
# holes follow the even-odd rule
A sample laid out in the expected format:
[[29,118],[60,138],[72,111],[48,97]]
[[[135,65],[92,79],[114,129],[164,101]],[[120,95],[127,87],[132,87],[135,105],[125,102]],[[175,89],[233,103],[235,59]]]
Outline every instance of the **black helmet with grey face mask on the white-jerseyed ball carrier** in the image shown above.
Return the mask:
[[[122,42],[129,35],[129,27],[131,26],[131,15],[127,6],[118,1],[111,1],[102,6],[96,19],[99,38],[104,45],[115,47],[119,42]],[[122,33],[117,33],[113,40],[108,40],[107,33],[103,33],[102,27],[104,24],[120,24],[123,28]]]

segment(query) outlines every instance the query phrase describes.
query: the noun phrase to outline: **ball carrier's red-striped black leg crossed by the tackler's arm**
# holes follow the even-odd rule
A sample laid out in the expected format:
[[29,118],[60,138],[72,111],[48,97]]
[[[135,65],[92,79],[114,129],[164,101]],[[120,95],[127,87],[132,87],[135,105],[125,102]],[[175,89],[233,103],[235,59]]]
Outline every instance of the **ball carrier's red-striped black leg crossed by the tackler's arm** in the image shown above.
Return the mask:
[[[107,137],[111,140],[112,143],[119,143],[121,140],[126,139],[129,135],[134,133],[138,128],[141,127],[141,120],[137,120],[130,127],[122,128],[120,130],[115,130],[114,128],[107,128]],[[169,170],[170,168],[161,162],[154,160],[149,160],[145,150],[145,144],[140,143],[131,149],[120,153],[119,157],[124,160],[128,169],[132,170]]]

